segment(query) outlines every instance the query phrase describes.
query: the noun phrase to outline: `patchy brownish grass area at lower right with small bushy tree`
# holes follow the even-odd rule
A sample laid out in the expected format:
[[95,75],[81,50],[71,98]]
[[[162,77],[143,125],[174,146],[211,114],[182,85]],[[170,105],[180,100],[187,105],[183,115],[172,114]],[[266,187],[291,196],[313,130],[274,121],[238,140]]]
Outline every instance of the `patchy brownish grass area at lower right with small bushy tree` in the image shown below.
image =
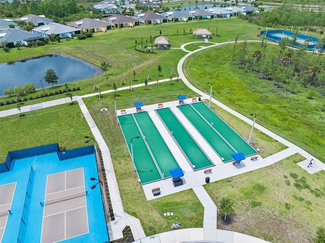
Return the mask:
[[325,171],[309,175],[296,154],[266,168],[204,186],[218,206],[222,196],[235,201],[231,224],[218,215],[217,227],[270,242],[309,242],[323,224]]

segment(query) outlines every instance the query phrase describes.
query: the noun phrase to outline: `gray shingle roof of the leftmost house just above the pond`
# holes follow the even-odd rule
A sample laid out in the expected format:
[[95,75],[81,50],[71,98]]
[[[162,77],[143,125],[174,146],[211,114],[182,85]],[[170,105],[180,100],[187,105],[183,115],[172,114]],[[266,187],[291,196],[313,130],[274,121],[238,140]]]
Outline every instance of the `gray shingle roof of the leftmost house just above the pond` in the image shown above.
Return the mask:
[[7,29],[0,32],[0,42],[7,41],[8,43],[18,42],[18,41],[35,41],[43,39],[43,37],[38,36],[37,34],[30,33],[21,29]]

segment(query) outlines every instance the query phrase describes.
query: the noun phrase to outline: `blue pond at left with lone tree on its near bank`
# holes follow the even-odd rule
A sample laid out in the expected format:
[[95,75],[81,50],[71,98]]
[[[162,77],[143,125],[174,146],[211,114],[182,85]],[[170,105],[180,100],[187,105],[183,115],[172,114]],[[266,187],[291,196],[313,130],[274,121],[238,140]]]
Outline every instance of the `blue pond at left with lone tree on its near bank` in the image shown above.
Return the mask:
[[57,84],[69,83],[102,74],[99,66],[68,54],[48,54],[0,64],[0,95],[11,87],[34,83],[36,88],[52,86],[44,80],[49,68],[59,77]]

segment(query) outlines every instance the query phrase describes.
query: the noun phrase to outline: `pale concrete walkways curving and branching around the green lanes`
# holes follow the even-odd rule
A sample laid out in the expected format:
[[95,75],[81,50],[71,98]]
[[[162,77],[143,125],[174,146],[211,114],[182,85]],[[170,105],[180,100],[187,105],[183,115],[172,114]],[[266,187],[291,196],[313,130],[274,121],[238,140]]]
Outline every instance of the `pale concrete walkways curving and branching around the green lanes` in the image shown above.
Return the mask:
[[[196,42],[197,43],[197,42]],[[188,52],[181,60],[179,61],[177,65],[178,74],[180,75],[180,79],[193,91],[197,92],[202,96],[203,99],[208,99],[209,95],[202,92],[201,90],[197,89],[193,85],[191,85],[188,80],[186,79],[185,75],[182,71],[182,66],[185,61],[185,59],[190,56],[193,53],[196,53],[198,51],[201,51],[202,49],[211,48],[216,45],[222,45],[222,44],[228,44],[226,43],[215,43],[209,47],[202,47],[201,49],[189,52],[185,49],[185,46],[188,45],[184,44],[181,46],[181,49]],[[273,44],[273,43],[272,43]],[[175,79],[175,78],[174,78]],[[160,80],[159,82],[165,82],[169,81],[170,79],[166,80]],[[150,84],[156,84],[156,81],[148,83]],[[138,84],[133,85],[133,88],[144,86],[144,84]],[[118,88],[118,90],[123,89],[129,89],[128,86],[124,86],[122,88]],[[102,93],[111,93],[114,92],[114,90],[108,90],[104,91]],[[217,207],[212,201],[212,199],[209,197],[205,189],[202,185],[205,184],[205,177],[207,175],[204,175],[203,171],[192,171],[191,168],[186,172],[184,175],[184,185],[181,187],[172,187],[171,179],[147,184],[143,186],[145,195],[148,200],[157,198],[153,197],[151,193],[151,188],[159,186],[162,189],[162,193],[160,196],[175,193],[178,191],[186,190],[189,188],[192,188],[193,191],[198,196],[199,200],[201,201],[202,205],[204,206],[204,221],[203,221],[203,228],[190,228],[190,229],[179,229],[169,232],[164,232],[156,235],[152,235],[149,237],[145,236],[145,233],[143,231],[143,228],[141,226],[141,223],[139,219],[128,215],[124,212],[122,200],[120,197],[120,193],[118,190],[118,185],[115,177],[115,172],[113,168],[113,163],[110,155],[109,148],[107,147],[104,138],[102,137],[99,129],[96,127],[95,122],[93,121],[89,111],[87,110],[82,98],[90,97],[98,95],[98,93],[92,93],[84,96],[74,96],[73,99],[77,100],[80,106],[81,111],[84,114],[84,117],[92,131],[92,134],[94,135],[94,138],[96,142],[99,144],[99,147],[103,154],[103,160],[104,160],[104,166],[106,171],[106,177],[109,185],[110,195],[112,198],[112,207],[114,210],[114,217],[115,221],[108,222],[108,231],[109,231],[109,237],[110,240],[115,240],[122,237],[122,230],[126,225],[129,225],[132,229],[133,235],[137,242],[184,242],[184,241],[213,241],[213,242],[226,242],[226,243],[233,243],[233,242],[267,242],[262,239],[258,239],[249,235],[240,234],[233,231],[225,231],[225,230],[219,230],[216,229],[216,217],[217,217]],[[70,97],[47,101],[38,103],[35,105],[25,106],[21,108],[21,112],[29,112],[33,110],[38,110],[46,107],[61,105],[63,103],[71,102]],[[190,102],[190,101],[188,101]],[[215,103],[225,111],[230,112],[231,114],[239,117],[241,120],[247,122],[248,124],[252,125],[252,121],[243,115],[235,112],[234,110],[224,106],[222,103],[217,101],[216,99],[212,98],[211,102]],[[164,103],[164,106],[168,106],[168,103]],[[145,108],[146,109],[146,108]],[[135,108],[126,109],[128,113],[135,112]],[[147,110],[149,111],[149,109]],[[10,109],[6,111],[0,111],[0,117],[10,116],[19,114],[19,111],[17,109]],[[120,113],[119,113],[120,114]],[[295,153],[299,153],[302,156],[306,158],[306,161],[310,161],[311,159],[314,159],[313,167],[317,169],[323,169],[325,170],[325,164],[323,164],[318,159],[312,157],[309,153],[302,150],[298,146],[284,140],[284,138],[276,135],[275,133],[267,130],[266,128],[258,125],[255,123],[255,129],[261,130],[264,133],[268,134],[269,136],[273,137],[278,142],[286,145],[288,148],[276,153],[272,156],[269,156],[267,158],[260,158],[258,162],[252,162],[248,159],[241,162],[240,165],[236,164],[235,166],[232,163],[216,163],[215,169],[213,169],[213,173],[209,174],[210,182],[222,180],[225,178],[229,178],[232,176],[239,175],[241,173],[245,173],[247,171],[251,171],[257,168],[265,167],[270,164],[273,164],[279,160],[282,160],[290,155],[293,155]],[[186,167],[185,170],[187,170],[188,167]],[[306,169],[307,170],[307,169]],[[158,196],[159,197],[159,196]]]

